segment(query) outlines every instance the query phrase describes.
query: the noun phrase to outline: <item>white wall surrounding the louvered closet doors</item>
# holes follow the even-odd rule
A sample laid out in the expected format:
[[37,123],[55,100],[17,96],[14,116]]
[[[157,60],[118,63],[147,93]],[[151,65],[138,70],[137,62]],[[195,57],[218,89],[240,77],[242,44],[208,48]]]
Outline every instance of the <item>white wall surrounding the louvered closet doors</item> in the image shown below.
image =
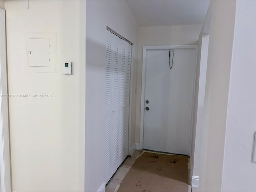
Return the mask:
[[96,192],[104,182],[104,106],[106,26],[132,46],[131,144],[135,143],[134,85],[137,79],[138,25],[126,1],[86,1],[86,150],[85,191]]

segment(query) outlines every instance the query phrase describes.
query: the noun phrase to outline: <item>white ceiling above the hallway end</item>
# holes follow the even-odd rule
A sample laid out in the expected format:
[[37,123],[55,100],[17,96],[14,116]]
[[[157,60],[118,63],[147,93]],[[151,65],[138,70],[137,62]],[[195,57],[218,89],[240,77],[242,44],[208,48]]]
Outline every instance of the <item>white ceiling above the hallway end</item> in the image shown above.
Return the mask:
[[210,0],[126,0],[139,26],[203,24]]

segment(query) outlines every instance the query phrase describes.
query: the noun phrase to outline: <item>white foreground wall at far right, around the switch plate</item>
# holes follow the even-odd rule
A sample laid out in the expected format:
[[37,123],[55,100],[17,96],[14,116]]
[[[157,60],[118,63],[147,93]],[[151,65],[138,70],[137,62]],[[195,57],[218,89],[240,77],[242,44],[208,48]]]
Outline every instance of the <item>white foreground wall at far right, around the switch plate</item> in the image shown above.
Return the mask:
[[256,163],[251,162],[256,131],[256,2],[236,2],[222,192],[255,192]]

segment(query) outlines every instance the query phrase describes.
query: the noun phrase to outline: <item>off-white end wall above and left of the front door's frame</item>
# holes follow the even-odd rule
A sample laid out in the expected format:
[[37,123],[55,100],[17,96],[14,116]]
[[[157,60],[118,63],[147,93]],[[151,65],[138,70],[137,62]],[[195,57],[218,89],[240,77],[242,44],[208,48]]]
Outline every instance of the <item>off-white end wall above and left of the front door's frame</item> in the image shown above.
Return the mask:
[[150,45],[197,44],[202,25],[141,27],[138,44],[138,77],[136,104],[136,143],[140,142],[140,102],[142,82],[142,50]]

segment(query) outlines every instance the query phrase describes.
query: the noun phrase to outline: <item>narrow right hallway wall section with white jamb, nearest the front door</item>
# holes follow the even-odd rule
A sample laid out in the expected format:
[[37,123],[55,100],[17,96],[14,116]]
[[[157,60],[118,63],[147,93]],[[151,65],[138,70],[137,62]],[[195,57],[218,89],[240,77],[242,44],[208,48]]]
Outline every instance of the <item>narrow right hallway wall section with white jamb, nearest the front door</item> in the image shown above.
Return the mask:
[[206,85],[206,70],[209,47],[210,14],[206,14],[198,40],[198,57],[196,67],[196,86],[194,97],[194,115],[190,152],[191,184],[198,187],[200,180],[200,157],[202,129],[204,118],[204,98]]

